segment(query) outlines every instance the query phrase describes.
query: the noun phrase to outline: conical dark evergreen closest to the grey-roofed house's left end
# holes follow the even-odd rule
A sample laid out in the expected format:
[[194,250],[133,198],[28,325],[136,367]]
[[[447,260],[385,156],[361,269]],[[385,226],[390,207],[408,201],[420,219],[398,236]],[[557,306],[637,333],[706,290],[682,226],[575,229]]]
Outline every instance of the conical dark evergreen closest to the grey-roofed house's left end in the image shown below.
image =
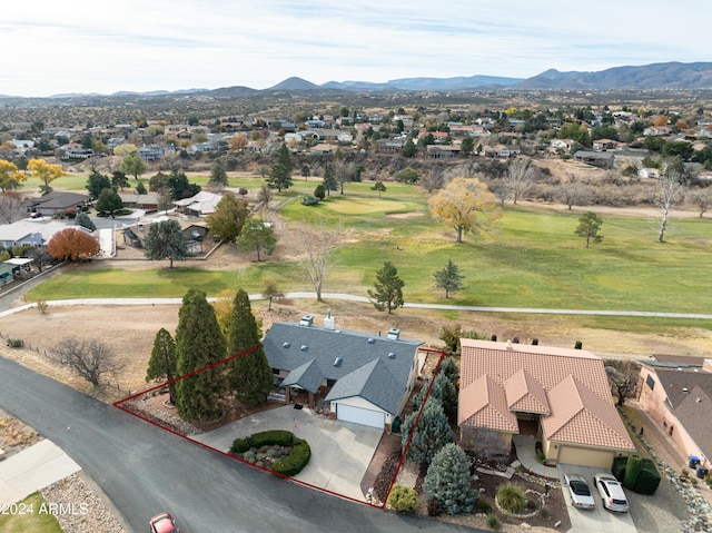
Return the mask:
[[249,406],[264,402],[274,386],[271,368],[259,337],[259,326],[253,315],[249,296],[245,290],[239,289],[233,302],[227,343],[228,356],[251,348],[257,349],[230,361],[229,379],[235,397]]

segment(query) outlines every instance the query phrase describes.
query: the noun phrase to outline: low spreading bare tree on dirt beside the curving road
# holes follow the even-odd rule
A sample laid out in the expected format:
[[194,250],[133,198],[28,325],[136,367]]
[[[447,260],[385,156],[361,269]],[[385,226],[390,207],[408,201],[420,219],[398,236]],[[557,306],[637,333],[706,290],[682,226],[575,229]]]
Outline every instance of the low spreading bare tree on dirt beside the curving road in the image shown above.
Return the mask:
[[99,385],[103,374],[121,368],[109,346],[97,338],[85,340],[67,337],[55,346],[50,356],[95,386]]

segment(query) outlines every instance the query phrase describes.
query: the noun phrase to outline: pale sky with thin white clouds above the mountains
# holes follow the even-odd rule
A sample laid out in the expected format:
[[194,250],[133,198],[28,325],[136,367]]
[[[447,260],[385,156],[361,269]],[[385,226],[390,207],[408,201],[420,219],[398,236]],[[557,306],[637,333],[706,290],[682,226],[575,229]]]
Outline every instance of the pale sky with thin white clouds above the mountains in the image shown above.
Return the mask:
[[14,0],[0,12],[0,95],[712,61],[710,27],[709,0]]

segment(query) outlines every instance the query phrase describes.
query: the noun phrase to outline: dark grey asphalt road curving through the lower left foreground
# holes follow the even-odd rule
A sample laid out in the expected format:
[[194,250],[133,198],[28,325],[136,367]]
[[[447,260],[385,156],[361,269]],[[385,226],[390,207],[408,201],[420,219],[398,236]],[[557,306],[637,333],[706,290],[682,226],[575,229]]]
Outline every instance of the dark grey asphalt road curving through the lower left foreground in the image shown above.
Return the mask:
[[1,357],[0,408],[81,465],[137,533],[164,510],[184,533],[476,531],[384,512],[274,477]]

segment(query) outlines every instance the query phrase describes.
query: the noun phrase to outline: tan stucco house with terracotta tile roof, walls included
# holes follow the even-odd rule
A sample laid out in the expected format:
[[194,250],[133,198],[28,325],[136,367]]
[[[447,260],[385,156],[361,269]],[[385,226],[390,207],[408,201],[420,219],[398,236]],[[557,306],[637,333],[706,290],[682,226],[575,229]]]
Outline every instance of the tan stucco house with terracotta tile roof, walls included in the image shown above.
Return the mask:
[[547,464],[610,468],[635,451],[603,361],[582,349],[461,339],[457,424],[465,450],[506,455],[535,435]]

